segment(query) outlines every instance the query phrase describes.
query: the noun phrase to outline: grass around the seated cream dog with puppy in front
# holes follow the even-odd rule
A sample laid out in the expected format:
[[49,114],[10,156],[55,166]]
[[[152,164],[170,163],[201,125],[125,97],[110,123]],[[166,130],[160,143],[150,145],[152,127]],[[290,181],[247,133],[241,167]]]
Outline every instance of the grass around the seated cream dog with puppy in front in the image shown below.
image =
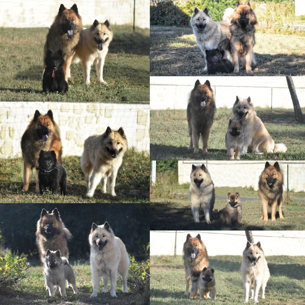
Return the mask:
[[[303,124],[297,124],[293,109],[271,110],[257,107],[256,112],[275,143],[284,143],[288,150],[278,154],[247,153],[241,156],[241,160],[305,160],[305,128]],[[225,134],[231,117],[231,109],[217,109],[210,131],[208,154],[203,156],[201,141],[199,154],[188,150],[186,109],[151,110],[150,160],[228,160]]]

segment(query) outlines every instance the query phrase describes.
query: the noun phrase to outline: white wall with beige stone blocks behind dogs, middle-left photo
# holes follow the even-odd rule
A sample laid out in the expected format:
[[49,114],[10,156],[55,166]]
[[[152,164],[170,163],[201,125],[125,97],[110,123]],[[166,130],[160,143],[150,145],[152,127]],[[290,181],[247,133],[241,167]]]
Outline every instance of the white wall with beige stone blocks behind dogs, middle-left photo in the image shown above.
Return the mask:
[[84,140],[107,126],[124,128],[128,146],[149,151],[149,105],[67,102],[0,102],[0,157],[21,156],[20,141],[35,110],[53,111],[61,131],[63,156],[81,156]]

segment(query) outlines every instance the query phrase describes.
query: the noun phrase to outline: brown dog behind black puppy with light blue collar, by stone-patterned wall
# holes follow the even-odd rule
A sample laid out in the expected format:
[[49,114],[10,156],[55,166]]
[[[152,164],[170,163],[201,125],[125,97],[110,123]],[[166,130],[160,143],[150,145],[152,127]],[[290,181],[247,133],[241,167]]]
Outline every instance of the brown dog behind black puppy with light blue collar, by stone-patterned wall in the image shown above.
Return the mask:
[[[38,158],[41,150],[54,150],[57,162],[61,164],[62,145],[60,131],[54,122],[52,110],[42,115],[35,111],[34,118],[30,122],[21,138],[21,150],[23,156],[23,192],[29,188],[32,168],[38,167]],[[36,192],[39,192],[38,170],[36,171]],[[57,249],[56,249],[57,250]]]

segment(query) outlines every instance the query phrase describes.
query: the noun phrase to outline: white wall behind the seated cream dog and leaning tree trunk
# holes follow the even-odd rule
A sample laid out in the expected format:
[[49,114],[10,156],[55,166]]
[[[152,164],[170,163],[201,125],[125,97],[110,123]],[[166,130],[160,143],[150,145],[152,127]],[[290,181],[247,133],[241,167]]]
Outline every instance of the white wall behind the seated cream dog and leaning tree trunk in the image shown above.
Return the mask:
[[[151,109],[186,109],[188,96],[196,80],[203,84],[207,79],[214,91],[217,107],[231,108],[236,95],[251,96],[254,106],[293,109],[286,77],[248,76],[151,76]],[[292,77],[301,107],[305,107],[305,77]]]

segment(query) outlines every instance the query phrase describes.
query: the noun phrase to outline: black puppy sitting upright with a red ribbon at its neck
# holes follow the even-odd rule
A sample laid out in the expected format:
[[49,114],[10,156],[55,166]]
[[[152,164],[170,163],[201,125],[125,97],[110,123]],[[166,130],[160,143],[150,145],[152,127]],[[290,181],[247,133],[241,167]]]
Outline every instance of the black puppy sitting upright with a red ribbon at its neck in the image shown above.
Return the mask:
[[65,94],[68,91],[68,83],[63,73],[64,63],[62,50],[56,52],[52,52],[51,50],[47,51],[47,56],[45,57],[45,73],[42,79],[42,91],[45,94],[56,91]]

